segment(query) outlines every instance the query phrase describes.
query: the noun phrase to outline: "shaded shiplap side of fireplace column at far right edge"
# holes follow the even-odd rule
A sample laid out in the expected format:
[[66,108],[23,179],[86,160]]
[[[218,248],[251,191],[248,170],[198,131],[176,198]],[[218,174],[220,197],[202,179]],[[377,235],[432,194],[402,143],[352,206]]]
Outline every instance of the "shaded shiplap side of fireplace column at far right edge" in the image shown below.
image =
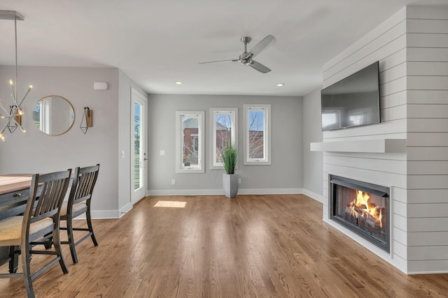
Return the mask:
[[448,272],[448,6],[407,7],[407,259]]

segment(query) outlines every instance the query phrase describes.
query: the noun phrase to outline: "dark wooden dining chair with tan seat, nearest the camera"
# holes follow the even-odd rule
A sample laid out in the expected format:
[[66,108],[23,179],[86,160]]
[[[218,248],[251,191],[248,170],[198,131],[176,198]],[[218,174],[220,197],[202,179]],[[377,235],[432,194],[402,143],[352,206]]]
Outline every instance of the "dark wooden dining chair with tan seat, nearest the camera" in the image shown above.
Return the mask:
[[[64,274],[69,272],[61,253],[59,240],[59,212],[69,187],[71,170],[34,174],[29,188],[29,198],[22,216],[11,216],[0,221],[0,246],[10,246],[10,259],[21,254],[22,272],[0,274],[0,278],[22,277],[28,297],[34,297],[32,281],[56,262]],[[53,250],[37,250],[38,244],[51,239]],[[15,250],[14,247],[20,247]],[[31,274],[31,255],[56,255],[48,264]]]

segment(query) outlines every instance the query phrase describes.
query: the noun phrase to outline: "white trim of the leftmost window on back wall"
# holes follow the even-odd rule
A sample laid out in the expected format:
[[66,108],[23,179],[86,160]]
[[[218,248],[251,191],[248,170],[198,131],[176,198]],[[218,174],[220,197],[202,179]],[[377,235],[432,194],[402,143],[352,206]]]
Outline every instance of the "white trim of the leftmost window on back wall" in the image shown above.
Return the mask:
[[[183,116],[192,116],[198,118],[198,139],[199,139],[199,164],[198,167],[185,167],[183,165]],[[176,111],[176,173],[184,174],[202,174],[205,172],[205,140],[204,140],[204,111]]]

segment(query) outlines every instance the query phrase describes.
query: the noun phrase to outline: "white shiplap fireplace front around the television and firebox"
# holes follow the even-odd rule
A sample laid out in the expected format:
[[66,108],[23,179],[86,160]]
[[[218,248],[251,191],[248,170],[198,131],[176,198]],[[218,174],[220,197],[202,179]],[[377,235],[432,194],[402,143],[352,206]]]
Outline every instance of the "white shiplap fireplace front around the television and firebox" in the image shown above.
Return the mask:
[[[325,131],[323,141],[406,138],[406,10],[402,9],[332,59],[323,68],[323,87],[342,80],[357,70],[379,61],[381,123],[371,126]],[[391,254],[365,244],[402,271],[407,271],[406,237],[406,154],[344,153],[323,154],[323,218],[330,221],[328,175],[367,181],[391,187]],[[336,225],[337,226],[337,225]],[[343,229],[339,229],[346,232]],[[363,243],[360,237],[346,232]]]

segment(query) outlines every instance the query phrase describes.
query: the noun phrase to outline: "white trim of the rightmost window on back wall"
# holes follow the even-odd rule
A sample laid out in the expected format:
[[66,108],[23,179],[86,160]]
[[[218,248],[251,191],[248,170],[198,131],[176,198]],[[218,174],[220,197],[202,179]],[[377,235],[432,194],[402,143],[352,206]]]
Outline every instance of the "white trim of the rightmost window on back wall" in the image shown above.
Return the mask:
[[[244,114],[244,165],[270,165],[271,164],[271,105],[257,105],[257,104],[246,104],[243,105]],[[248,112],[250,110],[263,110],[265,112],[264,117],[264,158],[248,158]]]

